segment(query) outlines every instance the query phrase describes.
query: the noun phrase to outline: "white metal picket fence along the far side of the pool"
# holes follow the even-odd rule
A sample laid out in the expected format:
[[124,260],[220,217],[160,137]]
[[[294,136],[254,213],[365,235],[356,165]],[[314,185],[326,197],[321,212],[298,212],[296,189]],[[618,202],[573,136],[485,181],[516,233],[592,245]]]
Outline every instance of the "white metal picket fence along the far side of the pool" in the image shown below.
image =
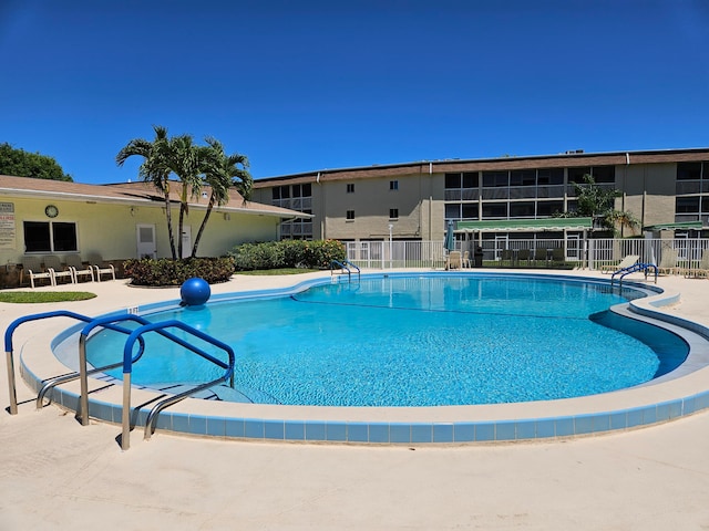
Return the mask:
[[[471,262],[482,251],[483,266],[535,266],[566,262],[592,270],[614,266],[624,257],[637,254],[645,263],[660,264],[664,253],[677,257],[677,271],[691,273],[702,268],[705,254],[709,256],[709,239],[535,239],[535,240],[483,240],[458,241],[458,249],[467,251]],[[667,252],[671,250],[671,252]],[[360,268],[400,269],[445,266],[446,251],[440,241],[349,241],[347,259]],[[542,257],[542,258],[540,258]],[[552,258],[553,257],[553,258]],[[667,258],[666,257],[666,258]],[[667,260],[665,260],[665,264]],[[706,263],[706,262],[705,262]],[[667,264],[669,267],[669,264]]]

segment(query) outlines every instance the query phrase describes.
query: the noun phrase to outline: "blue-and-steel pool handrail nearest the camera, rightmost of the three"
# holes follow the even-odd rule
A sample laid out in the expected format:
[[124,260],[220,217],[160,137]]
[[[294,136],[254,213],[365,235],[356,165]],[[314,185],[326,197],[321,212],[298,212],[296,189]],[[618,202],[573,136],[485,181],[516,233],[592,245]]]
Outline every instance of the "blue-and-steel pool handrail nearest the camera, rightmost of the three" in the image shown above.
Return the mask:
[[[188,334],[192,334],[201,339],[202,341],[205,341],[212,344],[213,346],[216,346],[217,348],[225,351],[228,356],[228,363],[225,363],[218,357],[215,357],[212,354],[202,351],[197,346],[192,345],[184,340],[179,340],[178,337],[165,331],[165,329],[171,329],[171,327],[179,329],[183,332],[187,332]],[[138,337],[141,337],[143,334],[147,332],[157,332],[165,337],[167,336],[175,337],[176,340],[178,340],[177,341],[178,344],[194,352],[195,354],[198,354],[203,358],[214,363],[215,365],[224,368],[225,372],[217,379],[214,379],[205,384],[199,384],[194,388],[188,389],[184,393],[164,398],[163,400],[158,402],[155,406],[153,406],[145,421],[145,439],[150,439],[154,430],[153,426],[157,420],[157,415],[160,415],[160,412],[162,412],[164,408],[173,404],[176,404],[177,402],[184,398],[187,398],[188,396],[195,393],[198,393],[201,391],[204,391],[208,387],[220,384],[223,382],[229,381],[230,386],[234,387],[235,355],[234,355],[234,350],[226,343],[223,343],[222,341],[215,337],[212,337],[210,335],[205,334],[204,332],[201,332],[199,330],[194,329],[188,324],[183,323],[182,321],[175,321],[175,320],[162,321],[158,323],[148,323],[138,329],[135,329],[131,333],[129,339],[125,341],[125,345],[123,347],[123,412],[122,412],[122,423],[121,423],[122,424],[121,448],[123,450],[127,450],[131,447],[131,373],[133,371],[133,346],[135,345],[135,342],[138,340]]]

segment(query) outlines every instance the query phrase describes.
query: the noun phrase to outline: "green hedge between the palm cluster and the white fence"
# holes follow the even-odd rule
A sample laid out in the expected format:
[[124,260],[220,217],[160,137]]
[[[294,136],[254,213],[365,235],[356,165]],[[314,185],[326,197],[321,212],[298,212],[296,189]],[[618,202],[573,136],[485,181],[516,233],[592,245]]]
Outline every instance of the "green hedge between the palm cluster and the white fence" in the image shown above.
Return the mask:
[[327,269],[332,260],[347,257],[345,246],[337,240],[282,240],[243,243],[229,256],[237,271],[279,268]]

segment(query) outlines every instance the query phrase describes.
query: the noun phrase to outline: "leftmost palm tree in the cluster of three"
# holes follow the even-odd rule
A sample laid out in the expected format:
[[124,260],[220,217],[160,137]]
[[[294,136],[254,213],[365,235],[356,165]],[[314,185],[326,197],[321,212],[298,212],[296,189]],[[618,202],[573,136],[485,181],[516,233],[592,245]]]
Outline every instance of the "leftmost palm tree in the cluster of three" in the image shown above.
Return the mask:
[[153,142],[143,138],[133,138],[115,156],[115,162],[119,166],[123,166],[123,163],[125,163],[129,157],[134,155],[143,157],[144,160],[138,169],[138,175],[143,181],[152,183],[165,198],[165,217],[167,220],[169,249],[173,254],[173,260],[176,260],[175,236],[173,233],[172,212],[169,208],[169,174],[172,170],[168,164],[168,156],[171,140],[167,138],[167,128],[154,125],[153,129],[155,131],[155,139]]

